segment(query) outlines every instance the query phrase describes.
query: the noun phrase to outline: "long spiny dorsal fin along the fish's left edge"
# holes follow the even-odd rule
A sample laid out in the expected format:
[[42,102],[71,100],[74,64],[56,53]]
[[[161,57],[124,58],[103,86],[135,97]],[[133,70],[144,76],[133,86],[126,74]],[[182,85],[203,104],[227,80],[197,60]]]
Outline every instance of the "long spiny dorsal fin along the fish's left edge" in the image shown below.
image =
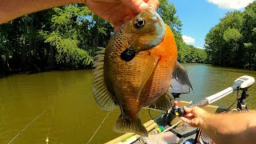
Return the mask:
[[104,81],[104,55],[105,48],[100,48],[96,56],[97,60],[95,61],[94,67],[94,85],[93,85],[93,94],[95,101],[98,103],[98,106],[102,110],[112,111],[116,108],[114,103],[113,96],[110,94],[109,90],[106,88]]

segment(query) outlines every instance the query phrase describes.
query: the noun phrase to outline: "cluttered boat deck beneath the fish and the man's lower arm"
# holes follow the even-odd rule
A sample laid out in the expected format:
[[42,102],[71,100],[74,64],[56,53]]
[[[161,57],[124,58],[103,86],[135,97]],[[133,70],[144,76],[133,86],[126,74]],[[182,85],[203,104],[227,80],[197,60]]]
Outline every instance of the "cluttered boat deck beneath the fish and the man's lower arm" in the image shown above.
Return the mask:
[[[188,104],[190,104],[190,102],[180,101],[181,106],[186,106]],[[222,108],[218,106],[205,106],[203,109],[210,113],[222,113],[223,111],[226,110],[226,108]],[[230,110],[230,112],[231,111],[236,111],[236,110]],[[146,126],[146,123],[148,124],[147,126]],[[150,120],[149,122],[146,122],[146,123],[144,124],[144,126],[148,131],[153,130],[156,126],[162,126],[164,130],[172,127],[169,131],[166,131],[166,132],[169,132],[168,134],[166,134],[166,132],[164,131],[163,133],[161,133],[163,134],[162,136],[160,136],[161,134],[157,134],[158,136],[155,135],[158,138],[162,137],[163,141],[166,141],[166,140],[169,141],[168,138],[169,139],[176,138],[175,141],[171,143],[183,143],[186,141],[190,143],[194,143],[196,139],[197,131],[198,131],[197,128],[187,125],[186,123],[182,122],[177,116],[170,114],[170,112],[167,112],[167,114],[160,114],[157,118],[154,118],[154,120]],[[150,137],[151,136],[149,136],[149,138]],[[153,141],[157,140],[155,142],[158,142],[158,138],[153,139]],[[147,142],[147,143],[155,143],[153,141]],[[210,139],[205,134],[201,134],[199,141],[204,143],[211,143]],[[142,138],[138,134],[127,133],[127,134],[123,134],[118,138],[111,140],[110,142],[107,142],[107,144],[112,144],[112,143],[141,144],[143,142],[142,142]]]

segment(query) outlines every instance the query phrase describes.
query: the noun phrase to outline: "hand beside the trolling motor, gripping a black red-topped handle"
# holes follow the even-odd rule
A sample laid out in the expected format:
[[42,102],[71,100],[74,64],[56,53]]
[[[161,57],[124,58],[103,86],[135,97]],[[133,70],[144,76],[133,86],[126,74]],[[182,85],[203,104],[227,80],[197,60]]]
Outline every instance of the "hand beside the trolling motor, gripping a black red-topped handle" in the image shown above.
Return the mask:
[[186,122],[190,126],[201,127],[206,118],[210,117],[210,113],[207,113],[206,110],[202,110],[199,107],[187,108],[184,107],[186,115],[180,117],[183,122]]

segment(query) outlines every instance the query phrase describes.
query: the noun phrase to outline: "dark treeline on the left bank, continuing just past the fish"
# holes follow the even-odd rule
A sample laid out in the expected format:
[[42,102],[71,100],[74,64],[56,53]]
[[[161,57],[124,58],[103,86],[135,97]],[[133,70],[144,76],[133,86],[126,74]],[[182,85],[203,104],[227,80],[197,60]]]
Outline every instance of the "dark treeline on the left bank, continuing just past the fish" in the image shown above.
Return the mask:
[[[158,13],[174,32],[180,62],[206,62],[205,50],[186,45],[173,4],[160,0]],[[84,5],[27,14],[0,25],[0,76],[14,72],[90,68],[98,46],[105,47],[113,26]]]

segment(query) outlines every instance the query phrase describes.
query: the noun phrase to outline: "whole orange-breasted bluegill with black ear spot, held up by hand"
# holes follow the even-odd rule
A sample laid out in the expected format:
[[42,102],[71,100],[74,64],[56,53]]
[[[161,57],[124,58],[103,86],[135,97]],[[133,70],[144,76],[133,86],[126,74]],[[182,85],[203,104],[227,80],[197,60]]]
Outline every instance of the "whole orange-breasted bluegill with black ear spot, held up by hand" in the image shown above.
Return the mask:
[[159,14],[149,8],[122,25],[98,53],[94,70],[94,98],[102,110],[120,107],[114,131],[147,135],[142,108],[168,110],[171,78],[191,86],[177,62],[174,35]]

